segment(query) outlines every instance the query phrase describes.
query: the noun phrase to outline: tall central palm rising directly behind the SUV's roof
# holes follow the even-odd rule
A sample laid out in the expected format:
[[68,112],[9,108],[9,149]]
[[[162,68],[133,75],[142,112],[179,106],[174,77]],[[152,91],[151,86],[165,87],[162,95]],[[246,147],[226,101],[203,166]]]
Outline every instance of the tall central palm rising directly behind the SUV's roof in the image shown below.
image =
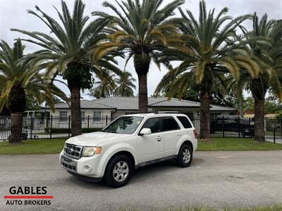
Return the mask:
[[[169,37],[176,33],[172,24],[175,19],[169,19],[173,11],[184,3],[184,0],[174,0],[161,8],[163,0],[127,0],[118,3],[121,11],[115,5],[104,1],[103,6],[110,8],[116,16],[95,11],[105,20],[111,19],[110,41],[102,44],[94,51],[94,60],[98,60],[107,51],[118,49],[128,53],[126,63],[133,57],[135,71],[139,84],[139,111],[148,110],[147,73],[151,61],[158,63],[158,54],[169,41]],[[125,64],[126,64],[125,63]]]

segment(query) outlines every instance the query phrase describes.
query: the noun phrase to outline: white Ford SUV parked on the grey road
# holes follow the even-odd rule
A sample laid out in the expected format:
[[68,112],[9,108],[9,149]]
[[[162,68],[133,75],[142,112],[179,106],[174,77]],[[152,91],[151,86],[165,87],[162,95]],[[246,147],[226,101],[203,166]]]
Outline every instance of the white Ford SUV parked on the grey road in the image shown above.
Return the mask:
[[60,154],[61,167],[90,181],[114,188],[128,183],[133,170],[175,159],[188,167],[197,149],[197,133],[186,115],[145,113],[123,115],[102,132],[72,137]]

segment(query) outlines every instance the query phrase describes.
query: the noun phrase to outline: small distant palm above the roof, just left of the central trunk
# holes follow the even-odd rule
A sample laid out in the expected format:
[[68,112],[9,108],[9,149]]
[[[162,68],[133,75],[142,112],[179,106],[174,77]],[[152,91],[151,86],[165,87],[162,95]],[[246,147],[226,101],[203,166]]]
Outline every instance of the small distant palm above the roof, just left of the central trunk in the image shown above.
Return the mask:
[[130,72],[124,70],[123,73],[116,78],[116,84],[118,85],[114,91],[114,95],[134,96],[133,89],[136,89],[134,82],[136,82],[136,79]]

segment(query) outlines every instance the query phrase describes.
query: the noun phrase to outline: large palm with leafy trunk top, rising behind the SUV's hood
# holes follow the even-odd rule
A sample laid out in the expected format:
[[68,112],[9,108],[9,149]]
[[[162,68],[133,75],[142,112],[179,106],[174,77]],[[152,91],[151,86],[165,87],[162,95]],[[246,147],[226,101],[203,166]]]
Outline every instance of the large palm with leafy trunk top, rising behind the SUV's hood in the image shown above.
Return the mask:
[[[37,12],[28,11],[47,25],[50,34],[43,32],[27,32],[25,30],[12,29],[12,31],[27,34],[32,39],[23,39],[44,48],[44,53],[37,60],[49,60],[47,77],[61,75],[68,82],[71,91],[71,132],[73,136],[80,135],[80,90],[92,87],[92,72],[99,73],[101,67],[121,72],[114,64],[114,56],[117,52],[109,51],[92,63],[91,52],[106,39],[104,27],[109,23],[106,18],[98,18],[89,22],[89,17],[84,16],[85,4],[81,0],[75,0],[73,15],[68,11],[65,1],[61,1],[61,12],[56,11],[61,24],[54,18],[44,13],[38,6]],[[121,55],[120,55],[121,56]]]

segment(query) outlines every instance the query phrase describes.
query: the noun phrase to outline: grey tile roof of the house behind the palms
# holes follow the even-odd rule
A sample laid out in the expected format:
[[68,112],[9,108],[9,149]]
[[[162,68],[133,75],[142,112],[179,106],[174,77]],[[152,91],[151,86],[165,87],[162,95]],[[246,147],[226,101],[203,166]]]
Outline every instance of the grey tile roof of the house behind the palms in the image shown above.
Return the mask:
[[[69,108],[67,103],[57,103],[56,108]],[[178,100],[177,98],[171,98],[168,101],[166,97],[149,97],[148,98],[149,108],[200,108],[200,103],[195,101],[185,101]],[[117,110],[138,110],[138,97],[109,97],[109,98],[99,98],[94,101],[81,101],[81,108],[90,109],[117,109]],[[211,105],[211,110],[226,110],[235,111],[235,108],[229,108],[224,106]]]

